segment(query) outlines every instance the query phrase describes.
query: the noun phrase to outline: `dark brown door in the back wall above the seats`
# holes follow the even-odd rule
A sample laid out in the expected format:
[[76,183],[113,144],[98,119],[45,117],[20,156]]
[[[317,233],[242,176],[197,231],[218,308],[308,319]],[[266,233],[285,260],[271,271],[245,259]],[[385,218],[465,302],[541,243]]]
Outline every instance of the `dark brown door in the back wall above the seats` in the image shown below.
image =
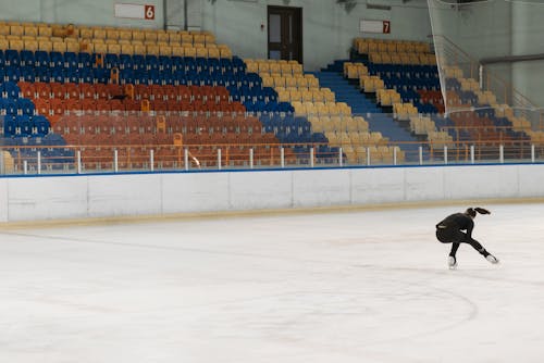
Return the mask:
[[302,63],[302,9],[268,7],[269,59]]

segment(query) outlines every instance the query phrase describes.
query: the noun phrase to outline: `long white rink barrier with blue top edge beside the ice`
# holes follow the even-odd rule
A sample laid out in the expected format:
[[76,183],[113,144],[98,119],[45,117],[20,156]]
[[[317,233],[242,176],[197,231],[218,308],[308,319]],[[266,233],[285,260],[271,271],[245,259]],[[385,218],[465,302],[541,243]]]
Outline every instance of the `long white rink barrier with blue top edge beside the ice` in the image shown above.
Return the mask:
[[4,177],[0,222],[544,197],[544,165]]

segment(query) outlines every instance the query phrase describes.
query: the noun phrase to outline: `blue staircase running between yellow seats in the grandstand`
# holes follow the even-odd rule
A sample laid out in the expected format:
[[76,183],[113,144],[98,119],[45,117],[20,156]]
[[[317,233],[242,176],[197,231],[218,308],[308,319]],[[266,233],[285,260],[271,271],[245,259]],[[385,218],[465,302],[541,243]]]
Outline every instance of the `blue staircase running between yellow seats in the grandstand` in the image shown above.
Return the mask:
[[[336,61],[327,68],[339,68],[345,61]],[[406,152],[407,160],[417,157],[418,141],[410,133],[401,125],[396,123],[393,117],[382,112],[382,110],[367,99],[358,87],[349,84],[342,75],[343,71],[334,72],[319,72],[316,73],[321,87],[331,88],[336,95],[337,102],[346,102],[350,108],[354,115],[361,115],[369,123],[369,129],[372,132],[380,132],[384,137],[387,137],[393,142],[413,142],[403,143],[400,148]]]

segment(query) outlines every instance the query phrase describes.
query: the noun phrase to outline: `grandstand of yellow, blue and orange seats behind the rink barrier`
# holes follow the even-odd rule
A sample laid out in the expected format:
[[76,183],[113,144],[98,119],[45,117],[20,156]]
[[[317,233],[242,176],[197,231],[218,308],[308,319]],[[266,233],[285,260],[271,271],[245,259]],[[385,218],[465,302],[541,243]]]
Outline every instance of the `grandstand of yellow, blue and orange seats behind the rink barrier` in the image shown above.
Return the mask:
[[306,167],[446,153],[462,162],[474,146],[480,161],[541,150],[534,123],[472,72],[437,65],[428,40],[354,35],[349,60],[316,72],[245,58],[218,38],[203,28],[2,22],[5,164],[15,173]]

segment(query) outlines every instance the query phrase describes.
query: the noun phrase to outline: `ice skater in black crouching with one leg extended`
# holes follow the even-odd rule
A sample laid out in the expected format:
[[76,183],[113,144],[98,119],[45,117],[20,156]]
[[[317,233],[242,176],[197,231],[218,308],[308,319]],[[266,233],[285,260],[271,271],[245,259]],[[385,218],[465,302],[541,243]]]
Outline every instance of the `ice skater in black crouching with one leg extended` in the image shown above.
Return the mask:
[[472,238],[472,229],[474,228],[473,220],[477,213],[491,214],[490,211],[483,208],[469,208],[465,211],[465,213],[448,215],[444,218],[444,221],[436,225],[436,238],[442,243],[453,243],[452,251],[449,252],[449,256],[447,259],[449,268],[457,267],[457,258],[455,254],[461,243],[469,243],[474,248],[474,250],[480,252],[485,260],[491,263],[498,263],[498,260],[493,254],[487,252],[479,241]]

